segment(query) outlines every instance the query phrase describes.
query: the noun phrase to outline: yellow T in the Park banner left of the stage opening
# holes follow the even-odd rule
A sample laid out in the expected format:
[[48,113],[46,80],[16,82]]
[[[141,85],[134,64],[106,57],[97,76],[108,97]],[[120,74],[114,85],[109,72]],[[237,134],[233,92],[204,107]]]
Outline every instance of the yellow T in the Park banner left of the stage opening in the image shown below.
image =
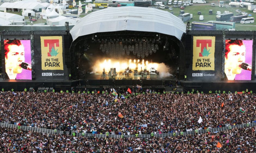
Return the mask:
[[62,36],[41,36],[42,70],[63,70]]

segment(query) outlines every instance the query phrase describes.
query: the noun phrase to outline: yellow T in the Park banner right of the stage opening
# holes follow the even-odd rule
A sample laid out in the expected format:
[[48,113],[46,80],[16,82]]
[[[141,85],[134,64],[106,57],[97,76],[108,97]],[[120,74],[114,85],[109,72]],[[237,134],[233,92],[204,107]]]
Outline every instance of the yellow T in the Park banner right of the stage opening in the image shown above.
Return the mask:
[[192,70],[214,70],[215,37],[193,37]]

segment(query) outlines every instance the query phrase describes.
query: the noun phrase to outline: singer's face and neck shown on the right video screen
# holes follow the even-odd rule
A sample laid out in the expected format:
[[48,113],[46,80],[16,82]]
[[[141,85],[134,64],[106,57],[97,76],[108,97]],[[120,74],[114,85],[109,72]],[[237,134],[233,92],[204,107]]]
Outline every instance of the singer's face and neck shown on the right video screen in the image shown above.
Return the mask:
[[242,68],[240,67],[245,62],[245,45],[230,45],[230,52],[225,57],[225,69],[231,69],[233,74],[240,74]]

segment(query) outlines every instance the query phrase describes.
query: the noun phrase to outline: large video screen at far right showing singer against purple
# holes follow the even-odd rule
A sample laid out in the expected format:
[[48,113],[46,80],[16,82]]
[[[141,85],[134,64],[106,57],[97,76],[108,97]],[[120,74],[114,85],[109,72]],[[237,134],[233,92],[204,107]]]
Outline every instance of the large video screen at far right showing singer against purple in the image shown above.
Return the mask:
[[225,79],[251,80],[252,40],[226,40]]

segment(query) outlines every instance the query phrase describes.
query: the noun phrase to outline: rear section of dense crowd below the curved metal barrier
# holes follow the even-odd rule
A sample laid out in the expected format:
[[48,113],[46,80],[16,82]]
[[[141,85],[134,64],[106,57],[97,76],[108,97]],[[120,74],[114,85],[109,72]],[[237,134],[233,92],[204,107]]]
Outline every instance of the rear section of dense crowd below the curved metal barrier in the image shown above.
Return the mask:
[[[255,127],[168,138],[86,138],[1,128],[0,152],[255,152]],[[221,148],[217,147],[220,143]]]

